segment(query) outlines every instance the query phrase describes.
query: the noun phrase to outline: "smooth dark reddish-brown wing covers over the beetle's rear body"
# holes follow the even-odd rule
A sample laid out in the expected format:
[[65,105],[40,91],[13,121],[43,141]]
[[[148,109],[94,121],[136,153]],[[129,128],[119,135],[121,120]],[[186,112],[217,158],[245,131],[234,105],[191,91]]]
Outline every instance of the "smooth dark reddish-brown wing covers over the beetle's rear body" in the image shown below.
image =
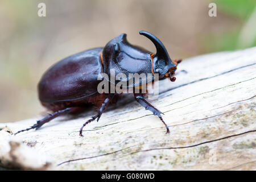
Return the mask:
[[102,48],[76,53],[53,65],[38,84],[41,102],[80,100],[97,92],[98,74],[103,72]]

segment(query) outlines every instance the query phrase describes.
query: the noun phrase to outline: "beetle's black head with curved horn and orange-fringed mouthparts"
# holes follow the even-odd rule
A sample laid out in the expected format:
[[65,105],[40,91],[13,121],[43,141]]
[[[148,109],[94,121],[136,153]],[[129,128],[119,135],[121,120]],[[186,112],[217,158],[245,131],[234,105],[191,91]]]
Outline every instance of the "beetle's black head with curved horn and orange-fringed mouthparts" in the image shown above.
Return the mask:
[[[146,36],[155,44],[156,53],[152,54],[153,71],[159,74],[159,78],[170,77],[171,81],[175,81],[175,77],[172,77],[177,69],[176,62],[172,61],[163,43],[156,38],[156,36],[146,31],[140,31],[139,34]],[[179,60],[179,63],[181,61]]]

